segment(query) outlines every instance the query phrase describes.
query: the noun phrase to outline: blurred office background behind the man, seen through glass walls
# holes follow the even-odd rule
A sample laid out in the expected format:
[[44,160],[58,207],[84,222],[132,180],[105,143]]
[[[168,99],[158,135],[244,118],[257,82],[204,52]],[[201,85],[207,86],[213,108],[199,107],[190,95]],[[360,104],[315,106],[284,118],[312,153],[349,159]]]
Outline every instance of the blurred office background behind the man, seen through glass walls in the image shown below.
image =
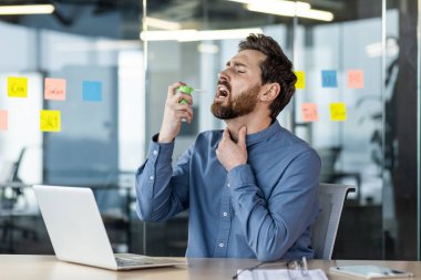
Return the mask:
[[[183,125],[174,160],[198,132],[224,127],[209,113],[217,73],[243,29],[253,29],[276,39],[305,74],[280,123],[318,151],[321,182],[357,186],[333,258],[419,259],[419,0],[295,2],[297,10],[330,12],[330,20],[228,0],[53,3],[52,14],[0,15],[0,111],[8,112],[0,129],[0,252],[52,253],[29,187],[42,183],[93,187],[116,251],[183,256],[188,214],[141,222],[134,173],[160,129],[168,84],[204,91],[194,93],[195,121]],[[157,27],[163,22],[154,19],[170,22]],[[228,29],[235,31],[181,33]],[[324,71],[336,82],[324,84]],[[362,81],[350,84],[350,71]],[[8,96],[10,76],[28,79],[27,98]],[[45,77],[66,81],[65,101],[43,98]],[[83,100],[85,81],[101,83],[100,101]],[[332,120],[338,103],[346,120]],[[316,118],[304,104],[317,106]],[[61,112],[60,132],[40,131],[41,110]]]

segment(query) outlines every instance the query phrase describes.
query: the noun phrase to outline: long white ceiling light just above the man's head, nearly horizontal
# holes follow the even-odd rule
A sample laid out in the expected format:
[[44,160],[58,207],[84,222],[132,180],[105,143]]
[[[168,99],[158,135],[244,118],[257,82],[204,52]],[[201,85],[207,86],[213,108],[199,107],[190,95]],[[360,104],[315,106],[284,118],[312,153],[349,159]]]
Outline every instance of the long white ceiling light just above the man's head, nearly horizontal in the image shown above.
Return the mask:
[[254,29],[226,29],[226,30],[176,30],[176,31],[142,31],[143,41],[207,41],[246,38],[250,33],[263,33],[259,28]]

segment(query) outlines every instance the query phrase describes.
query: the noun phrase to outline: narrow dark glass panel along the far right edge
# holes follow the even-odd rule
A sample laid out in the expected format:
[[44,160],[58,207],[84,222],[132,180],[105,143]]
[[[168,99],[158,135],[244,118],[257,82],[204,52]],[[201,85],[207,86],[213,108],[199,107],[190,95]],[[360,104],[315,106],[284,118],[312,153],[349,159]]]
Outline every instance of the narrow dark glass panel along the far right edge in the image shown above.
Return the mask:
[[384,258],[417,259],[418,1],[386,1],[384,32]]

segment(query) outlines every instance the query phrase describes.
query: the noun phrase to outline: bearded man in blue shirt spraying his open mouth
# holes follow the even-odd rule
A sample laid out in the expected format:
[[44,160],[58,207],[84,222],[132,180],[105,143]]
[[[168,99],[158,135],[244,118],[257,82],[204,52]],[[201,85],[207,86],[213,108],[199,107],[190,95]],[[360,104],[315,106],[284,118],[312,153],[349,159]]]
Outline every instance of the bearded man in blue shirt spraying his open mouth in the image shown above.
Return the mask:
[[292,63],[270,37],[250,34],[238,46],[210,107],[226,128],[201,133],[175,166],[193,98],[177,91],[184,83],[168,86],[161,131],[136,173],[137,215],[161,221],[188,209],[191,258],[312,258],[320,158],[276,120],[295,92]]

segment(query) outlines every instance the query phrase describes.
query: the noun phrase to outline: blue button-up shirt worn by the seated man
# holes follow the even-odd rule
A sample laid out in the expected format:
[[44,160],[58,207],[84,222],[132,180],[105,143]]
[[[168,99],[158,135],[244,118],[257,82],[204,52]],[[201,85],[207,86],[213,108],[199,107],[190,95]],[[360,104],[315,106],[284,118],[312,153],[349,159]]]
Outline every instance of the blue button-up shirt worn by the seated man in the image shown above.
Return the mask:
[[248,163],[227,172],[215,154],[222,135],[199,134],[174,167],[174,143],[154,137],[136,174],[140,218],[160,221],[188,209],[187,257],[312,258],[317,153],[275,121],[247,135]]

